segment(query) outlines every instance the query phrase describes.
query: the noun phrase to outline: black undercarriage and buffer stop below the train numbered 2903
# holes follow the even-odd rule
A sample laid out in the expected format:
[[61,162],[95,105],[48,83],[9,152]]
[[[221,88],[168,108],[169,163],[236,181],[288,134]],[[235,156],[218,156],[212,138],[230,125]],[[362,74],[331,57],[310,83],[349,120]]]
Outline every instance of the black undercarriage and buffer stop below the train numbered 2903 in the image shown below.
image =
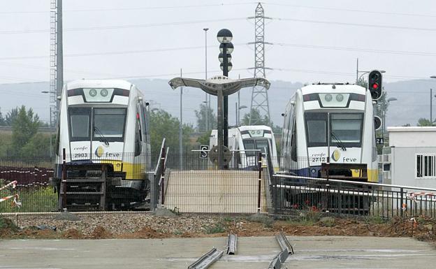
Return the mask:
[[110,163],[64,164],[61,177],[52,178],[59,210],[146,210],[150,184],[129,182]]

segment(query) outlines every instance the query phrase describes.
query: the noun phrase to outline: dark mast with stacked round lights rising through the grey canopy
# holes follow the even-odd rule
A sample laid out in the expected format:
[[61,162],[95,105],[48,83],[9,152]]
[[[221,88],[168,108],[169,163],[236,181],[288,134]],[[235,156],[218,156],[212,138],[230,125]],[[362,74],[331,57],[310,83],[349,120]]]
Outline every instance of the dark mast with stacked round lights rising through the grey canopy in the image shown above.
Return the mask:
[[[221,29],[217,34],[219,45],[219,56],[218,59],[221,62],[220,68],[223,71],[223,75],[228,77],[228,71],[231,71],[231,53],[233,52],[233,44],[231,43],[233,39],[233,34],[228,29]],[[218,112],[219,113],[219,112]],[[223,99],[223,145],[228,147],[228,96],[224,95]],[[218,131],[218,140],[221,133]]]

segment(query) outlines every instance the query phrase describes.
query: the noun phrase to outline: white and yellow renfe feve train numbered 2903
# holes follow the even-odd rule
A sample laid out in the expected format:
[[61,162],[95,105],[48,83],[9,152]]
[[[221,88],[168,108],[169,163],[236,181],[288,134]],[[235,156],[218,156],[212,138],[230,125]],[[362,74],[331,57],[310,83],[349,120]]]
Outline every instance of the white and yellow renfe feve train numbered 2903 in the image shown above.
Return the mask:
[[[126,207],[147,195],[151,166],[150,131],[143,94],[124,80],[75,80],[64,85],[57,125],[55,177],[67,164],[109,163],[107,207]],[[68,177],[95,177],[92,171],[69,171]],[[80,175],[79,175],[80,174]],[[94,171],[95,174],[95,171]],[[85,181],[85,180],[84,180]],[[56,187],[59,190],[58,180]],[[73,193],[92,187],[77,184]],[[94,191],[96,191],[94,189]],[[71,203],[89,203],[78,194]]]

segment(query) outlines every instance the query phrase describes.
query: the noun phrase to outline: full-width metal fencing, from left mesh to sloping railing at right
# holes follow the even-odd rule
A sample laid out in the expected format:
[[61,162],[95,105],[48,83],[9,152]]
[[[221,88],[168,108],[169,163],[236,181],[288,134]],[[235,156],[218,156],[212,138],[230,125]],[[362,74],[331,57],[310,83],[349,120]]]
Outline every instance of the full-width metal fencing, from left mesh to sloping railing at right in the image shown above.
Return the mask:
[[[317,177],[310,177],[306,175],[310,173],[309,169],[303,169],[307,167],[307,158],[294,161],[288,173],[283,175],[275,167],[279,160],[271,159],[268,154],[252,159],[249,166],[239,165],[244,162],[232,159],[235,162],[227,169],[218,170],[216,163],[201,158],[199,152],[172,154],[164,143],[162,149],[159,156],[115,154],[94,160],[94,163],[107,163],[110,167],[108,177],[120,179],[124,187],[135,183],[126,179],[144,179],[140,184],[145,184],[139,193],[119,192],[117,198],[112,198],[112,204],[103,210],[132,210],[124,204],[129,202],[124,198],[130,197],[143,203],[142,210],[154,210],[163,205],[179,212],[214,214],[268,212],[289,215],[297,210],[310,210],[382,218],[436,217],[436,189],[327,180],[318,177],[321,175],[319,170],[314,173]],[[0,213],[61,210],[59,193],[50,185],[49,178],[54,176],[56,169],[59,175],[61,166],[54,166],[54,163],[62,161],[63,157],[0,158]],[[77,156],[66,156],[65,161],[84,164]],[[322,160],[319,161],[321,165]],[[283,160],[280,162],[284,163]],[[71,170],[66,177],[89,176]],[[13,189],[12,182],[15,181]],[[10,185],[5,187],[6,184]],[[99,192],[99,189],[92,191]],[[89,188],[87,192],[90,192]],[[14,200],[21,206],[13,203]]]

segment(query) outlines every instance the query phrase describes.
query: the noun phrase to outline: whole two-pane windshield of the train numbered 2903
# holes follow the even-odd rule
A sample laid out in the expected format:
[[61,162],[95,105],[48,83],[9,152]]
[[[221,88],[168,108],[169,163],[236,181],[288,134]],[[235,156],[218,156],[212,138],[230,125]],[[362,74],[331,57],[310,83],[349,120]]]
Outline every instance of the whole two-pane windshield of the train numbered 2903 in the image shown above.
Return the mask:
[[68,112],[71,141],[91,140],[90,130],[94,130],[92,140],[123,141],[126,108],[69,108]]

